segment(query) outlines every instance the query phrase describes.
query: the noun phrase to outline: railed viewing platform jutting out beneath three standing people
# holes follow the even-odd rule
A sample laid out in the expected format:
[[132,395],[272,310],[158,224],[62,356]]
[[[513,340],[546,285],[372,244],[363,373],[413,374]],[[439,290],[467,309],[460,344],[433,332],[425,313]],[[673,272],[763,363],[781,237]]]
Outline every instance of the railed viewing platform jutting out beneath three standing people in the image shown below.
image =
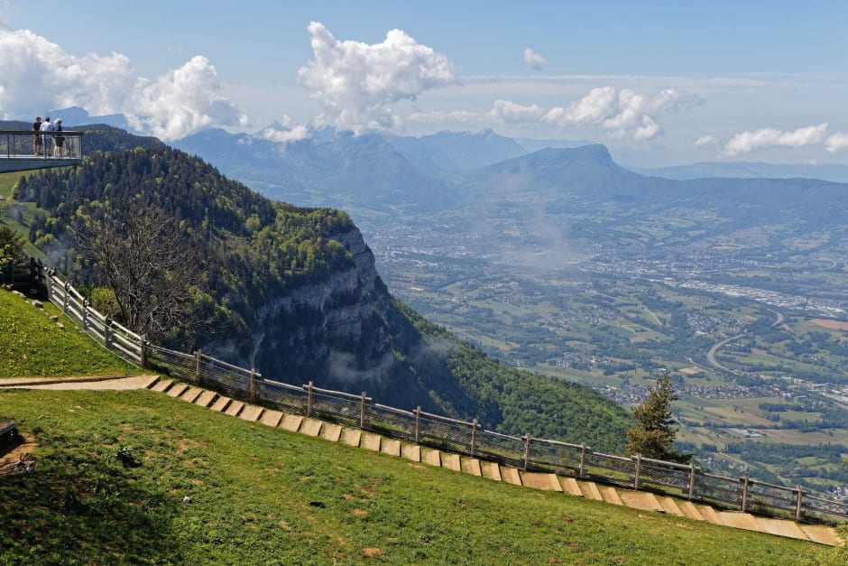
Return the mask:
[[[0,130],[0,173],[79,165],[82,136],[83,132],[72,130],[41,134],[37,148],[32,130]],[[59,140],[61,149],[56,144]]]

